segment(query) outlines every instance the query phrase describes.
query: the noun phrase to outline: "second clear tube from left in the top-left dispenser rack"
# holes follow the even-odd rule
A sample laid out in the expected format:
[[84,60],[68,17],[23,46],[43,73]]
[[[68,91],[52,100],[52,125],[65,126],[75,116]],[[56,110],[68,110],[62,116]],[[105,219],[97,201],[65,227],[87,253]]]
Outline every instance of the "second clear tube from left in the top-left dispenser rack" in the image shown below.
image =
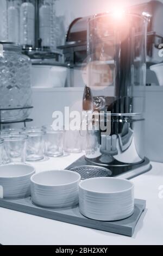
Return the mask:
[[34,0],[22,1],[20,7],[20,43],[34,46],[35,38],[35,6]]

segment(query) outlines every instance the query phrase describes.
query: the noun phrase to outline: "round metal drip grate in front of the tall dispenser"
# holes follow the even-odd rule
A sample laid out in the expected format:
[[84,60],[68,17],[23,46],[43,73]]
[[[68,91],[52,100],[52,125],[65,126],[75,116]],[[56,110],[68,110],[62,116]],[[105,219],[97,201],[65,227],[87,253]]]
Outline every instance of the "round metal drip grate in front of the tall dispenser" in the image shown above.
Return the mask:
[[108,177],[112,174],[111,170],[99,166],[77,166],[70,168],[70,170],[79,173],[82,180],[96,177]]

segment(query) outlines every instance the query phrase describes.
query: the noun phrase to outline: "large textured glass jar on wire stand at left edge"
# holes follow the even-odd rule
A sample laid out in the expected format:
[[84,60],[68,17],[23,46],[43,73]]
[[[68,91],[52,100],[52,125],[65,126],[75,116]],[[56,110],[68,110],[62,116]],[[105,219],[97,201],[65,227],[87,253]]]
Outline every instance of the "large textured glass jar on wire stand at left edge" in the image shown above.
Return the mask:
[[[29,107],[32,104],[30,59],[21,53],[21,46],[0,42],[0,108]],[[1,121],[26,119],[29,109],[1,111]]]

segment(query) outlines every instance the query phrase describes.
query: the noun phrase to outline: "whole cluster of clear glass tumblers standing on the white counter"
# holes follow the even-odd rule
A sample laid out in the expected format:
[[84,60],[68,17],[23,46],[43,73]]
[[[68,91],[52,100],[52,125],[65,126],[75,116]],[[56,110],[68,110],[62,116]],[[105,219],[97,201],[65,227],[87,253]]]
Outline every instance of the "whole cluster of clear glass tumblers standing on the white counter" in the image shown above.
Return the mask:
[[52,126],[4,129],[0,132],[0,164],[41,161],[64,155],[64,130]]

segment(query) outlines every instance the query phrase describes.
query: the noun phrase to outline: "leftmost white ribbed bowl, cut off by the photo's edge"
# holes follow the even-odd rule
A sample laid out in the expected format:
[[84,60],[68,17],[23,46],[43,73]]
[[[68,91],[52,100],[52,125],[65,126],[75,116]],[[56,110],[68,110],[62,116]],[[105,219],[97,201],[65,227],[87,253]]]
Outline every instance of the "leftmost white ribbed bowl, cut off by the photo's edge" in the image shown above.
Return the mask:
[[24,198],[30,196],[30,177],[35,169],[28,164],[0,166],[0,198]]

